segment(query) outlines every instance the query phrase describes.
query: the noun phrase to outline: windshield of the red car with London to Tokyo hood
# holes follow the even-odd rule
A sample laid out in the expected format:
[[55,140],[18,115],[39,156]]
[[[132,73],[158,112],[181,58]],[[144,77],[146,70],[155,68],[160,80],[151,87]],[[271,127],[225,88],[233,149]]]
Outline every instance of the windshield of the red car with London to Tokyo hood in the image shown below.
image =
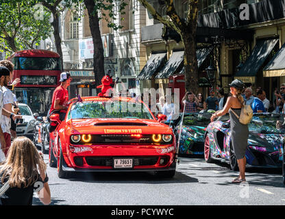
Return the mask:
[[71,107],[68,118],[141,118],[153,119],[151,113],[138,102],[88,101],[77,102]]

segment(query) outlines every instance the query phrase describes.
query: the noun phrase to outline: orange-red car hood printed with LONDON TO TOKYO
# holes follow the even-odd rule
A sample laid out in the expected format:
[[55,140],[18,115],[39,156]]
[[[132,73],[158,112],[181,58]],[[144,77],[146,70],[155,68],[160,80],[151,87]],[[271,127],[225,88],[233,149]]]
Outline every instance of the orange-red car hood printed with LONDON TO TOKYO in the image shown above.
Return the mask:
[[[156,120],[136,118],[73,119],[67,123],[79,133],[131,134],[172,133],[171,127]],[[74,133],[75,131],[73,131]]]

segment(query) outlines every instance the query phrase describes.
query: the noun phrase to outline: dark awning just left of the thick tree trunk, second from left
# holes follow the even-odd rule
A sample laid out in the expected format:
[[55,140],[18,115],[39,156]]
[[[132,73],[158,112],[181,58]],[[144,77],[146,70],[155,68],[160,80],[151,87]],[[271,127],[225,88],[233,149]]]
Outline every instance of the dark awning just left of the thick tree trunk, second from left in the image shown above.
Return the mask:
[[180,66],[184,58],[184,51],[173,51],[173,54],[169,58],[169,61],[166,62],[165,66],[160,70],[156,79],[169,78],[173,75],[177,68]]

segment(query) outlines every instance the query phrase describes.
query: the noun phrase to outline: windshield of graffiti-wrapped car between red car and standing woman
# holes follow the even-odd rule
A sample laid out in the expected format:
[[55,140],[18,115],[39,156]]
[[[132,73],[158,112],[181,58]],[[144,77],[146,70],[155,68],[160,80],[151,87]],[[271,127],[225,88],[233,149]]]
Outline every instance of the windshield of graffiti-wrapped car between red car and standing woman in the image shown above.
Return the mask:
[[207,127],[211,122],[212,114],[205,113],[193,113],[193,114],[184,114],[183,125],[197,125]]

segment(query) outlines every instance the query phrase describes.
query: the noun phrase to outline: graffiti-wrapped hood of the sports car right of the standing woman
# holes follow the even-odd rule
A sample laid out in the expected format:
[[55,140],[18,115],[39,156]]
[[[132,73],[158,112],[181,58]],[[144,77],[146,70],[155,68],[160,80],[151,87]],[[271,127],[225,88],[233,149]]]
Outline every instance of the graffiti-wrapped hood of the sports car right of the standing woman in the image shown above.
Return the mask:
[[285,135],[282,134],[260,134],[260,133],[249,133],[249,145],[263,146],[268,149],[279,150],[283,144]]

